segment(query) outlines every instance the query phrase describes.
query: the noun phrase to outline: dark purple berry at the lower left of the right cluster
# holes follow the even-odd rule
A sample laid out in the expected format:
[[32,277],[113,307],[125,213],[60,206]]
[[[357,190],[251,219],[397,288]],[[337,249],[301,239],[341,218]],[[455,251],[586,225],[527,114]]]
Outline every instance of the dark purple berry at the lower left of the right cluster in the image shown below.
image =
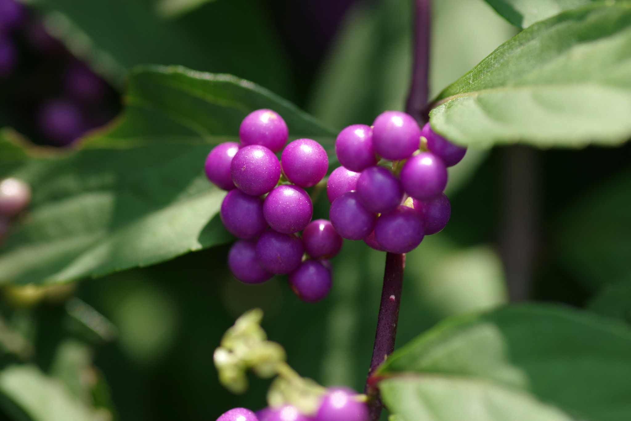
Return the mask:
[[335,199],[329,216],[339,235],[349,240],[363,240],[368,237],[377,219],[377,215],[363,207],[355,191]]

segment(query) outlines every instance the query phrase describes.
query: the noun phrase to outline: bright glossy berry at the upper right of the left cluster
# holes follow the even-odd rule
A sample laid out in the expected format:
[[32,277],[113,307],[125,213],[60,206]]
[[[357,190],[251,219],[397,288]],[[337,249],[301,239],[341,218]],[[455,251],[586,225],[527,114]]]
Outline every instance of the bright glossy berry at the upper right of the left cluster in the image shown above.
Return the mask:
[[280,162],[285,177],[305,188],[318,184],[329,169],[326,151],[312,139],[298,139],[287,145]]

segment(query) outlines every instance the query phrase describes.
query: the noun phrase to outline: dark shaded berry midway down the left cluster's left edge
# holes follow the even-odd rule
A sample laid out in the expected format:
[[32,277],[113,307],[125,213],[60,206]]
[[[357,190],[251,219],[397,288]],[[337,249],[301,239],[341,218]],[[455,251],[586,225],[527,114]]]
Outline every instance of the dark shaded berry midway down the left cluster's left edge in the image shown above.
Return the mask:
[[223,198],[220,216],[223,226],[240,239],[253,239],[268,228],[263,216],[262,199],[237,189]]

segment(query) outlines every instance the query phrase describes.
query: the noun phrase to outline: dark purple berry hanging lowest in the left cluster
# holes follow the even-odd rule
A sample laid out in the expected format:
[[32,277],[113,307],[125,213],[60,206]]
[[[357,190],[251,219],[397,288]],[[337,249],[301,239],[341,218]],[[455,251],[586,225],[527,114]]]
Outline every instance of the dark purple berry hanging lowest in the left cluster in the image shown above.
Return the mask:
[[318,260],[305,260],[288,278],[294,294],[305,302],[318,302],[331,290],[331,271]]

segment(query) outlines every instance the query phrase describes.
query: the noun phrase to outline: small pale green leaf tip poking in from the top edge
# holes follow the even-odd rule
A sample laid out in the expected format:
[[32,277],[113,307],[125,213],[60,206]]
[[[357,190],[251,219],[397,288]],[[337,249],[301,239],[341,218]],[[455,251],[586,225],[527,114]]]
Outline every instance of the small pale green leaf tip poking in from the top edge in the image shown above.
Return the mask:
[[486,0],[497,13],[520,28],[551,18],[562,11],[579,8],[594,0]]

